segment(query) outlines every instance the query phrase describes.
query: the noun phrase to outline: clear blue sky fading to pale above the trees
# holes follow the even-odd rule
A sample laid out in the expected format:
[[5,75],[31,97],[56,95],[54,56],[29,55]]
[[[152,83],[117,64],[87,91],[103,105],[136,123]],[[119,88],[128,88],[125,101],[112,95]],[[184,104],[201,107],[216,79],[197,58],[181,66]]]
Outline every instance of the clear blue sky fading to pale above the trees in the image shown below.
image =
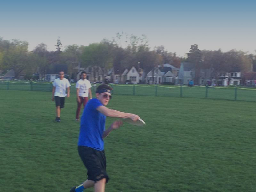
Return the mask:
[[64,48],[124,32],[145,34],[151,49],[164,45],[179,56],[192,44],[255,54],[255,7],[255,0],[2,0],[0,37],[27,41],[29,50],[45,43],[52,51],[59,36]]

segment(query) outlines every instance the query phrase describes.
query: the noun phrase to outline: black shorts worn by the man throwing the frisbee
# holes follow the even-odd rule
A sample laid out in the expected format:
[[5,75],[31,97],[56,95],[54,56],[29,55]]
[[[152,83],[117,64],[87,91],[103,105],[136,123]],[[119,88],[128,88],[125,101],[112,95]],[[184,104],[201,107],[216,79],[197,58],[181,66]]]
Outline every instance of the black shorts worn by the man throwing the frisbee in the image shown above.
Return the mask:
[[104,150],[98,151],[90,147],[78,146],[78,153],[87,169],[87,179],[97,182],[106,178],[106,183],[108,183]]

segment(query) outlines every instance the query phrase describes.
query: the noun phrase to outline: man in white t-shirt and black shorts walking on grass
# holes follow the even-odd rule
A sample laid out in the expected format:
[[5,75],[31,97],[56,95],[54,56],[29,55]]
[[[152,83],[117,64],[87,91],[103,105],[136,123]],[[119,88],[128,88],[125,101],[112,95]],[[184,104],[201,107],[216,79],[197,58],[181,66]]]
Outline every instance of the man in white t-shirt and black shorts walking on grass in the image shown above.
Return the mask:
[[[61,108],[64,108],[65,97],[70,96],[70,83],[68,79],[64,78],[64,71],[59,72],[59,78],[55,79],[52,87],[52,101],[56,103],[56,119],[60,122]],[[67,90],[67,94],[66,94]]]

